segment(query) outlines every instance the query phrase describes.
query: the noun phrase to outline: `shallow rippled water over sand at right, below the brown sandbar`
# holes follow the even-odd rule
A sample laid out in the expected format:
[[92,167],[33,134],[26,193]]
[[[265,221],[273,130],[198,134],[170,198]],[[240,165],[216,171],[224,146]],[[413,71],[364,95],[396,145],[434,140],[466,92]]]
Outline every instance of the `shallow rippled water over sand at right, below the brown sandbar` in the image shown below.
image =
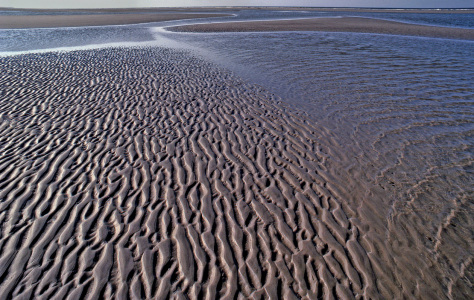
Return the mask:
[[[330,184],[347,191],[340,199],[384,244],[369,250],[389,262],[391,276],[376,273],[382,298],[402,298],[401,290],[472,296],[472,42],[316,32],[170,37],[232,61],[327,133],[318,142],[335,172]],[[437,292],[414,293],[427,282]]]

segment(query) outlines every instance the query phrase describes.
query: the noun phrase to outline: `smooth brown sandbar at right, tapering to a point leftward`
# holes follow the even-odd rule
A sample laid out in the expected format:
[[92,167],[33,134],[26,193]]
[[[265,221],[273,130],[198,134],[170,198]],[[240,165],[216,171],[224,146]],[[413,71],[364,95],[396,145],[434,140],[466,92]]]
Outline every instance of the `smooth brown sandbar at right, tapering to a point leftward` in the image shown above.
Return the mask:
[[474,29],[407,24],[360,17],[196,24],[169,28],[185,32],[328,31],[412,35],[474,40]]

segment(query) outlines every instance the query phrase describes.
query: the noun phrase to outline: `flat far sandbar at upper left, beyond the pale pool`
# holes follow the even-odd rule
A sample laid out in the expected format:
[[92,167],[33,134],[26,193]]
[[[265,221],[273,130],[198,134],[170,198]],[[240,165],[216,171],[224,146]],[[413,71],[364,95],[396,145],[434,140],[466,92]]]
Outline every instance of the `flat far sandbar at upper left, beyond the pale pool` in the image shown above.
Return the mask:
[[51,28],[124,25],[163,22],[183,19],[229,16],[227,14],[200,13],[127,13],[127,14],[81,14],[81,15],[19,15],[1,16],[0,28]]

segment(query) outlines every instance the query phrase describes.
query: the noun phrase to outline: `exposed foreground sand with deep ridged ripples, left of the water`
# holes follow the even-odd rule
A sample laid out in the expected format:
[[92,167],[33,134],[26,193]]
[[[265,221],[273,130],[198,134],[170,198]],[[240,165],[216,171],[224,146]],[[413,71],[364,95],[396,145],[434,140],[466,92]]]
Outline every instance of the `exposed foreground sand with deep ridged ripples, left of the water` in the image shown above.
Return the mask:
[[329,132],[189,52],[0,63],[5,298],[469,294],[387,240],[374,195],[344,191]]

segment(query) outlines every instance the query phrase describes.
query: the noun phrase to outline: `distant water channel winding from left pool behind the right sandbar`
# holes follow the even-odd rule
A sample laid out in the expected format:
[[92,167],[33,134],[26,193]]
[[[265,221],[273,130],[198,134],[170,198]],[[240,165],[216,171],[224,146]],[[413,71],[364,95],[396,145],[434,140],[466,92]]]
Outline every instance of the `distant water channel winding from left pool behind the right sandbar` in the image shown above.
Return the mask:
[[[27,11],[0,11],[6,14],[42,14]],[[67,12],[66,14],[70,14]],[[75,14],[75,12],[72,12]],[[82,12],[77,12],[81,14]],[[473,14],[430,14],[430,13],[376,13],[376,12],[315,12],[315,11],[265,11],[265,10],[232,10],[231,17],[200,19],[196,21],[179,20],[138,25],[119,25],[81,28],[43,28],[43,29],[0,29],[0,53],[5,51],[28,51],[52,49],[57,47],[74,47],[91,44],[117,42],[139,42],[153,40],[149,28],[173,26],[180,24],[249,21],[270,19],[291,19],[309,17],[361,16],[387,20],[396,20],[414,24],[437,25],[448,27],[474,28]]]

